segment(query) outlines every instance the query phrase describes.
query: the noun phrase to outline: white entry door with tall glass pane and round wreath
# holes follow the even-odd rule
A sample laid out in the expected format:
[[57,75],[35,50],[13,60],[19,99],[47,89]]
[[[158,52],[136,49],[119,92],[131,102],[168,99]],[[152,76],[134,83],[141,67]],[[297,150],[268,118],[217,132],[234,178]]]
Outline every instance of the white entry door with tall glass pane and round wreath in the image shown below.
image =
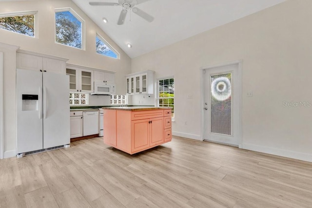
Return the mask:
[[204,139],[241,144],[239,63],[207,68],[204,73]]

